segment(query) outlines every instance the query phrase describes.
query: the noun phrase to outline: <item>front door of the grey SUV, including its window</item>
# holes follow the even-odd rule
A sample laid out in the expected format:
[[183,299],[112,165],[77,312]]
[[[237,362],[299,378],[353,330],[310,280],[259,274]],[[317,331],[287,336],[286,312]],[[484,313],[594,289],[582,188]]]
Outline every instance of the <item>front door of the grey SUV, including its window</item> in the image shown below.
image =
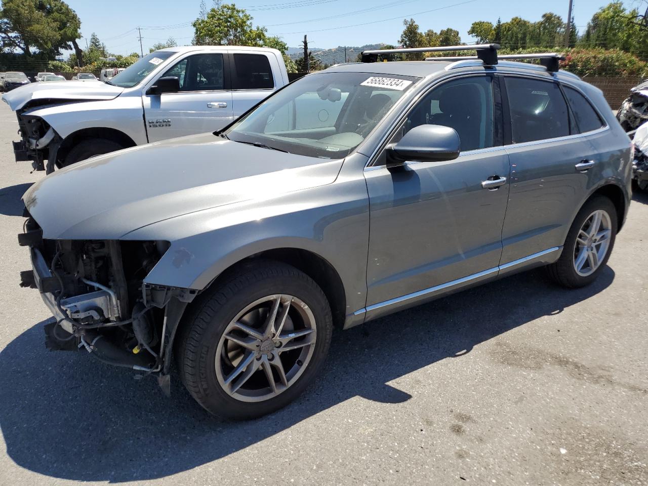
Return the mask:
[[[497,274],[510,168],[494,88],[489,75],[434,87],[391,140],[423,123],[450,126],[461,141],[457,159],[391,170],[378,159],[365,169],[371,212],[367,318],[382,307],[432,296],[439,286]],[[484,184],[489,180],[500,182]]]

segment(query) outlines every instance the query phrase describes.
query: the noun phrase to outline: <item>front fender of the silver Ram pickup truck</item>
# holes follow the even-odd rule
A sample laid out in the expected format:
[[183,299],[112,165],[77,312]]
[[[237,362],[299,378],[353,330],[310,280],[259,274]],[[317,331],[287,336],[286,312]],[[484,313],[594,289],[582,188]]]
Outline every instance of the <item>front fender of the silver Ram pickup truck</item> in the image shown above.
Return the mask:
[[128,135],[137,145],[148,143],[139,97],[60,104],[23,114],[41,117],[62,139],[86,128],[112,128]]

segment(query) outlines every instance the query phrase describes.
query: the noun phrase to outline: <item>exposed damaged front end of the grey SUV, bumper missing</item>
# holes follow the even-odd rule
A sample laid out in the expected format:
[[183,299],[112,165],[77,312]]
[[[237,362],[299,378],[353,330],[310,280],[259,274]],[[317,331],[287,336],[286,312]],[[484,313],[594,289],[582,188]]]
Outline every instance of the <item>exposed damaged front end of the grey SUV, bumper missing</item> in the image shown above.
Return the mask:
[[46,346],[84,350],[98,360],[156,374],[170,393],[172,342],[196,291],[144,283],[168,249],[163,241],[49,240],[33,218],[18,237],[32,270],[21,286],[37,288],[56,322]]

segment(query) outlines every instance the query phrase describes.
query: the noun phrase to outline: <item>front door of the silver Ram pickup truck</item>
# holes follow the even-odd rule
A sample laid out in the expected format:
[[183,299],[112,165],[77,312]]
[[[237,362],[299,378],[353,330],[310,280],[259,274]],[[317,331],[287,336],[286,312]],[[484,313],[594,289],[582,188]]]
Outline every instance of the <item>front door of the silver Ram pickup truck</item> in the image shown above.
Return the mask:
[[143,95],[149,142],[213,132],[231,122],[232,93],[226,56],[222,52],[193,54],[160,76],[177,76],[180,91]]

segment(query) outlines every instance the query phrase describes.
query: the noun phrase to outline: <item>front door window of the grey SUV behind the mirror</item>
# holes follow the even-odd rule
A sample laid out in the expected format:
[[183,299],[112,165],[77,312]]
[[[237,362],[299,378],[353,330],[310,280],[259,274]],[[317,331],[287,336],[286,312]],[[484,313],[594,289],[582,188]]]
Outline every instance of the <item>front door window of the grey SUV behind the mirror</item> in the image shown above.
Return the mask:
[[461,151],[493,146],[491,76],[469,76],[442,84],[408,115],[405,132],[422,124],[444,125],[459,134]]

